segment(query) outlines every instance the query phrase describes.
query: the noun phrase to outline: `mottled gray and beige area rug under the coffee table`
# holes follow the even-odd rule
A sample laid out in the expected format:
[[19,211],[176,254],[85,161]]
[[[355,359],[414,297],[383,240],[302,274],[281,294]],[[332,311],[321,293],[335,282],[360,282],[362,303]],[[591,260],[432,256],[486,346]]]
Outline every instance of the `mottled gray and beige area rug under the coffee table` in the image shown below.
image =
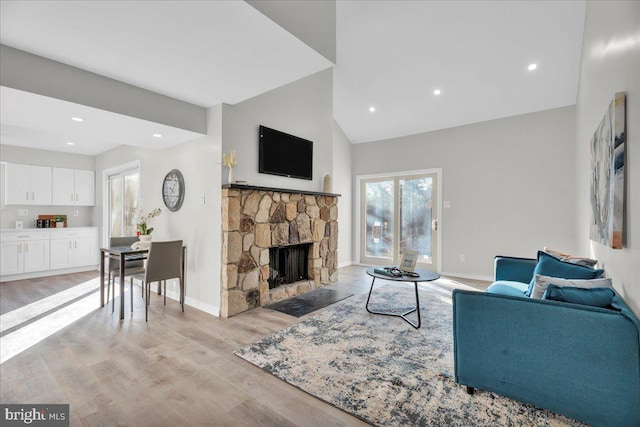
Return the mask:
[[[422,327],[369,314],[356,295],[235,354],[378,426],[581,426],[494,393],[471,396],[453,375],[450,296],[420,291]],[[406,311],[412,286],[374,289],[370,308]]]

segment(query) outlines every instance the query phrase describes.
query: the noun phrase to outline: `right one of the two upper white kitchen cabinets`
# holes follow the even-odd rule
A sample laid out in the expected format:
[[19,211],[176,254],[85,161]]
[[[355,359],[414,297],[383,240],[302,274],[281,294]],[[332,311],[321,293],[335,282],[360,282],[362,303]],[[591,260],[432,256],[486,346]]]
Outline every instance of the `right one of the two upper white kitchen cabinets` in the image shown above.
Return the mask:
[[53,168],[54,206],[94,206],[95,172]]

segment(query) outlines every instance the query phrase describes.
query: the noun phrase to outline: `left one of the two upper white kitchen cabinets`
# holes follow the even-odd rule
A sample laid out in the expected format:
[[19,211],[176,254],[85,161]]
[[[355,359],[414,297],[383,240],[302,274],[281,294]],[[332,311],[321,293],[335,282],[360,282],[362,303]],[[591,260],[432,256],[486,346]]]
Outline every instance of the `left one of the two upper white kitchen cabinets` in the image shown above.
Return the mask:
[[51,205],[51,167],[7,163],[5,204]]

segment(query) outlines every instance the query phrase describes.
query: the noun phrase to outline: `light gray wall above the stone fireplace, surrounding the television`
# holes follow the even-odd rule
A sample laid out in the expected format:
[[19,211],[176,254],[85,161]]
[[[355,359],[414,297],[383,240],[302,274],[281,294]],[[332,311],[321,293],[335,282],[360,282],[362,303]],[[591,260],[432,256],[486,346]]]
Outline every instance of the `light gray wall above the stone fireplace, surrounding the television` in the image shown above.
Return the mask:
[[[313,180],[258,173],[258,127],[313,141]],[[325,70],[222,110],[222,149],[236,150],[236,180],[250,185],[321,191],[333,169],[333,71]],[[227,169],[223,168],[223,182]]]

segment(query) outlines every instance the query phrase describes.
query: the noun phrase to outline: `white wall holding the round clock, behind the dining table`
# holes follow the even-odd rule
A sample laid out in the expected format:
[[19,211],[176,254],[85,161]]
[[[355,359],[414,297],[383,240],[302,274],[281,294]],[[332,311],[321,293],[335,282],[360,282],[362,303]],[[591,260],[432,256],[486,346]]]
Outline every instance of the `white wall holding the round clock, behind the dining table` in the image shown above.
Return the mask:
[[[96,158],[97,176],[102,182],[105,169],[140,160],[142,209],[149,212],[161,208],[153,220],[154,240],[182,239],[187,246],[187,305],[208,313],[220,314],[220,130],[221,106],[208,111],[206,137],[160,150],[120,147]],[[171,169],[180,169],[185,180],[182,208],[169,211],[162,201],[162,180]],[[102,184],[96,200],[96,223],[102,221]],[[205,204],[201,203],[204,196]],[[177,297],[177,281],[167,283],[167,294]]]

